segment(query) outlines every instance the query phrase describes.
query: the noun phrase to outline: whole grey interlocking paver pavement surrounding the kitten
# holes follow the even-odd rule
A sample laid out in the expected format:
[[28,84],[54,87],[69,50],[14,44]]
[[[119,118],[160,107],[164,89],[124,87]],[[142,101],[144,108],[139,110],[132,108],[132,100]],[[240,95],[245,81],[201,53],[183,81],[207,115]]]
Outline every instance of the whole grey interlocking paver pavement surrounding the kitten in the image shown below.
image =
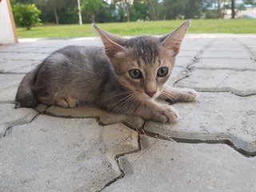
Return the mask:
[[50,52],[99,38],[0,46],[0,191],[256,191],[256,35],[189,34],[171,86],[198,90],[162,124],[94,106],[14,109]]

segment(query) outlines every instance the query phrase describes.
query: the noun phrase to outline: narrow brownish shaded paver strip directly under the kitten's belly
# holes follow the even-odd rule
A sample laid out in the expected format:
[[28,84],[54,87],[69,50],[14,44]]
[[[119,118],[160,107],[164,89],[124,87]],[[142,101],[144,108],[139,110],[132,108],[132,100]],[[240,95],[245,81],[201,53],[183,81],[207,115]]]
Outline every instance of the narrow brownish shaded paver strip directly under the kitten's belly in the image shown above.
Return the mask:
[[65,118],[97,118],[102,125],[124,123],[126,126],[130,126],[134,130],[141,129],[145,122],[143,118],[138,116],[113,114],[90,105],[78,106],[75,108],[50,106],[50,108],[46,110],[46,114]]

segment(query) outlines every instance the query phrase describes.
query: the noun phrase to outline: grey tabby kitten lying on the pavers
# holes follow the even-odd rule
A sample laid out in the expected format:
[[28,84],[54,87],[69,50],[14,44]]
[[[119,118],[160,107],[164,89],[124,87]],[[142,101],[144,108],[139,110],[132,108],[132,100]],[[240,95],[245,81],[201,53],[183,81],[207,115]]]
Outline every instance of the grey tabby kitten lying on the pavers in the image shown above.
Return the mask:
[[166,102],[192,102],[194,90],[164,86],[190,22],[161,38],[122,38],[94,26],[104,47],[66,46],[50,54],[22,79],[20,106],[74,107],[92,103],[120,114],[174,122],[178,113]]

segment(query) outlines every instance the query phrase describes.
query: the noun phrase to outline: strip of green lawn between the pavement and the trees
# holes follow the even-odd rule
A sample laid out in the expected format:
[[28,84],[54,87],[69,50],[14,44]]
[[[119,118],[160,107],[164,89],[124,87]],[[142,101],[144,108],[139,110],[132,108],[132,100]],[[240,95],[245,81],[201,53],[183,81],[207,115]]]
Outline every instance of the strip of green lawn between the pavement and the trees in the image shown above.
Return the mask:
[[[100,23],[102,29],[120,35],[166,34],[174,30],[182,20],[156,22],[114,22]],[[256,19],[194,19],[189,32],[256,34]],[[90,24],[38,26],[32,30],[17,28],[18,38],[77,38],[98,36]]]

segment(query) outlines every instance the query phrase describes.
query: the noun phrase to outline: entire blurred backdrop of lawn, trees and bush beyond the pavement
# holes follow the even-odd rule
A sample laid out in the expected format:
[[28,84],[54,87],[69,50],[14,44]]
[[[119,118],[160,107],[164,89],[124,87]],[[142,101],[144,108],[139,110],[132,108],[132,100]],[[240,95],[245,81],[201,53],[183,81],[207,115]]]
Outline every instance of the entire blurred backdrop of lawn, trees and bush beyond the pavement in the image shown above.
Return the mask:
[[[95,34],[91,26],[86,25],[92,22],[105,23],[106,25],[102,24],[102,26],[105,25],[106,30],[116,34],[163,34],[182,23],[178,20],[191,18],[194,19],[191,33],[256,33],[256,0],[10,0],[10,2],[19,38],[93,36]],[[79,25],[83,25],[83,28]],[[38,26],[37,29],[34,28],[35,26]],[[56,26],[58,28],[54,28]]]

